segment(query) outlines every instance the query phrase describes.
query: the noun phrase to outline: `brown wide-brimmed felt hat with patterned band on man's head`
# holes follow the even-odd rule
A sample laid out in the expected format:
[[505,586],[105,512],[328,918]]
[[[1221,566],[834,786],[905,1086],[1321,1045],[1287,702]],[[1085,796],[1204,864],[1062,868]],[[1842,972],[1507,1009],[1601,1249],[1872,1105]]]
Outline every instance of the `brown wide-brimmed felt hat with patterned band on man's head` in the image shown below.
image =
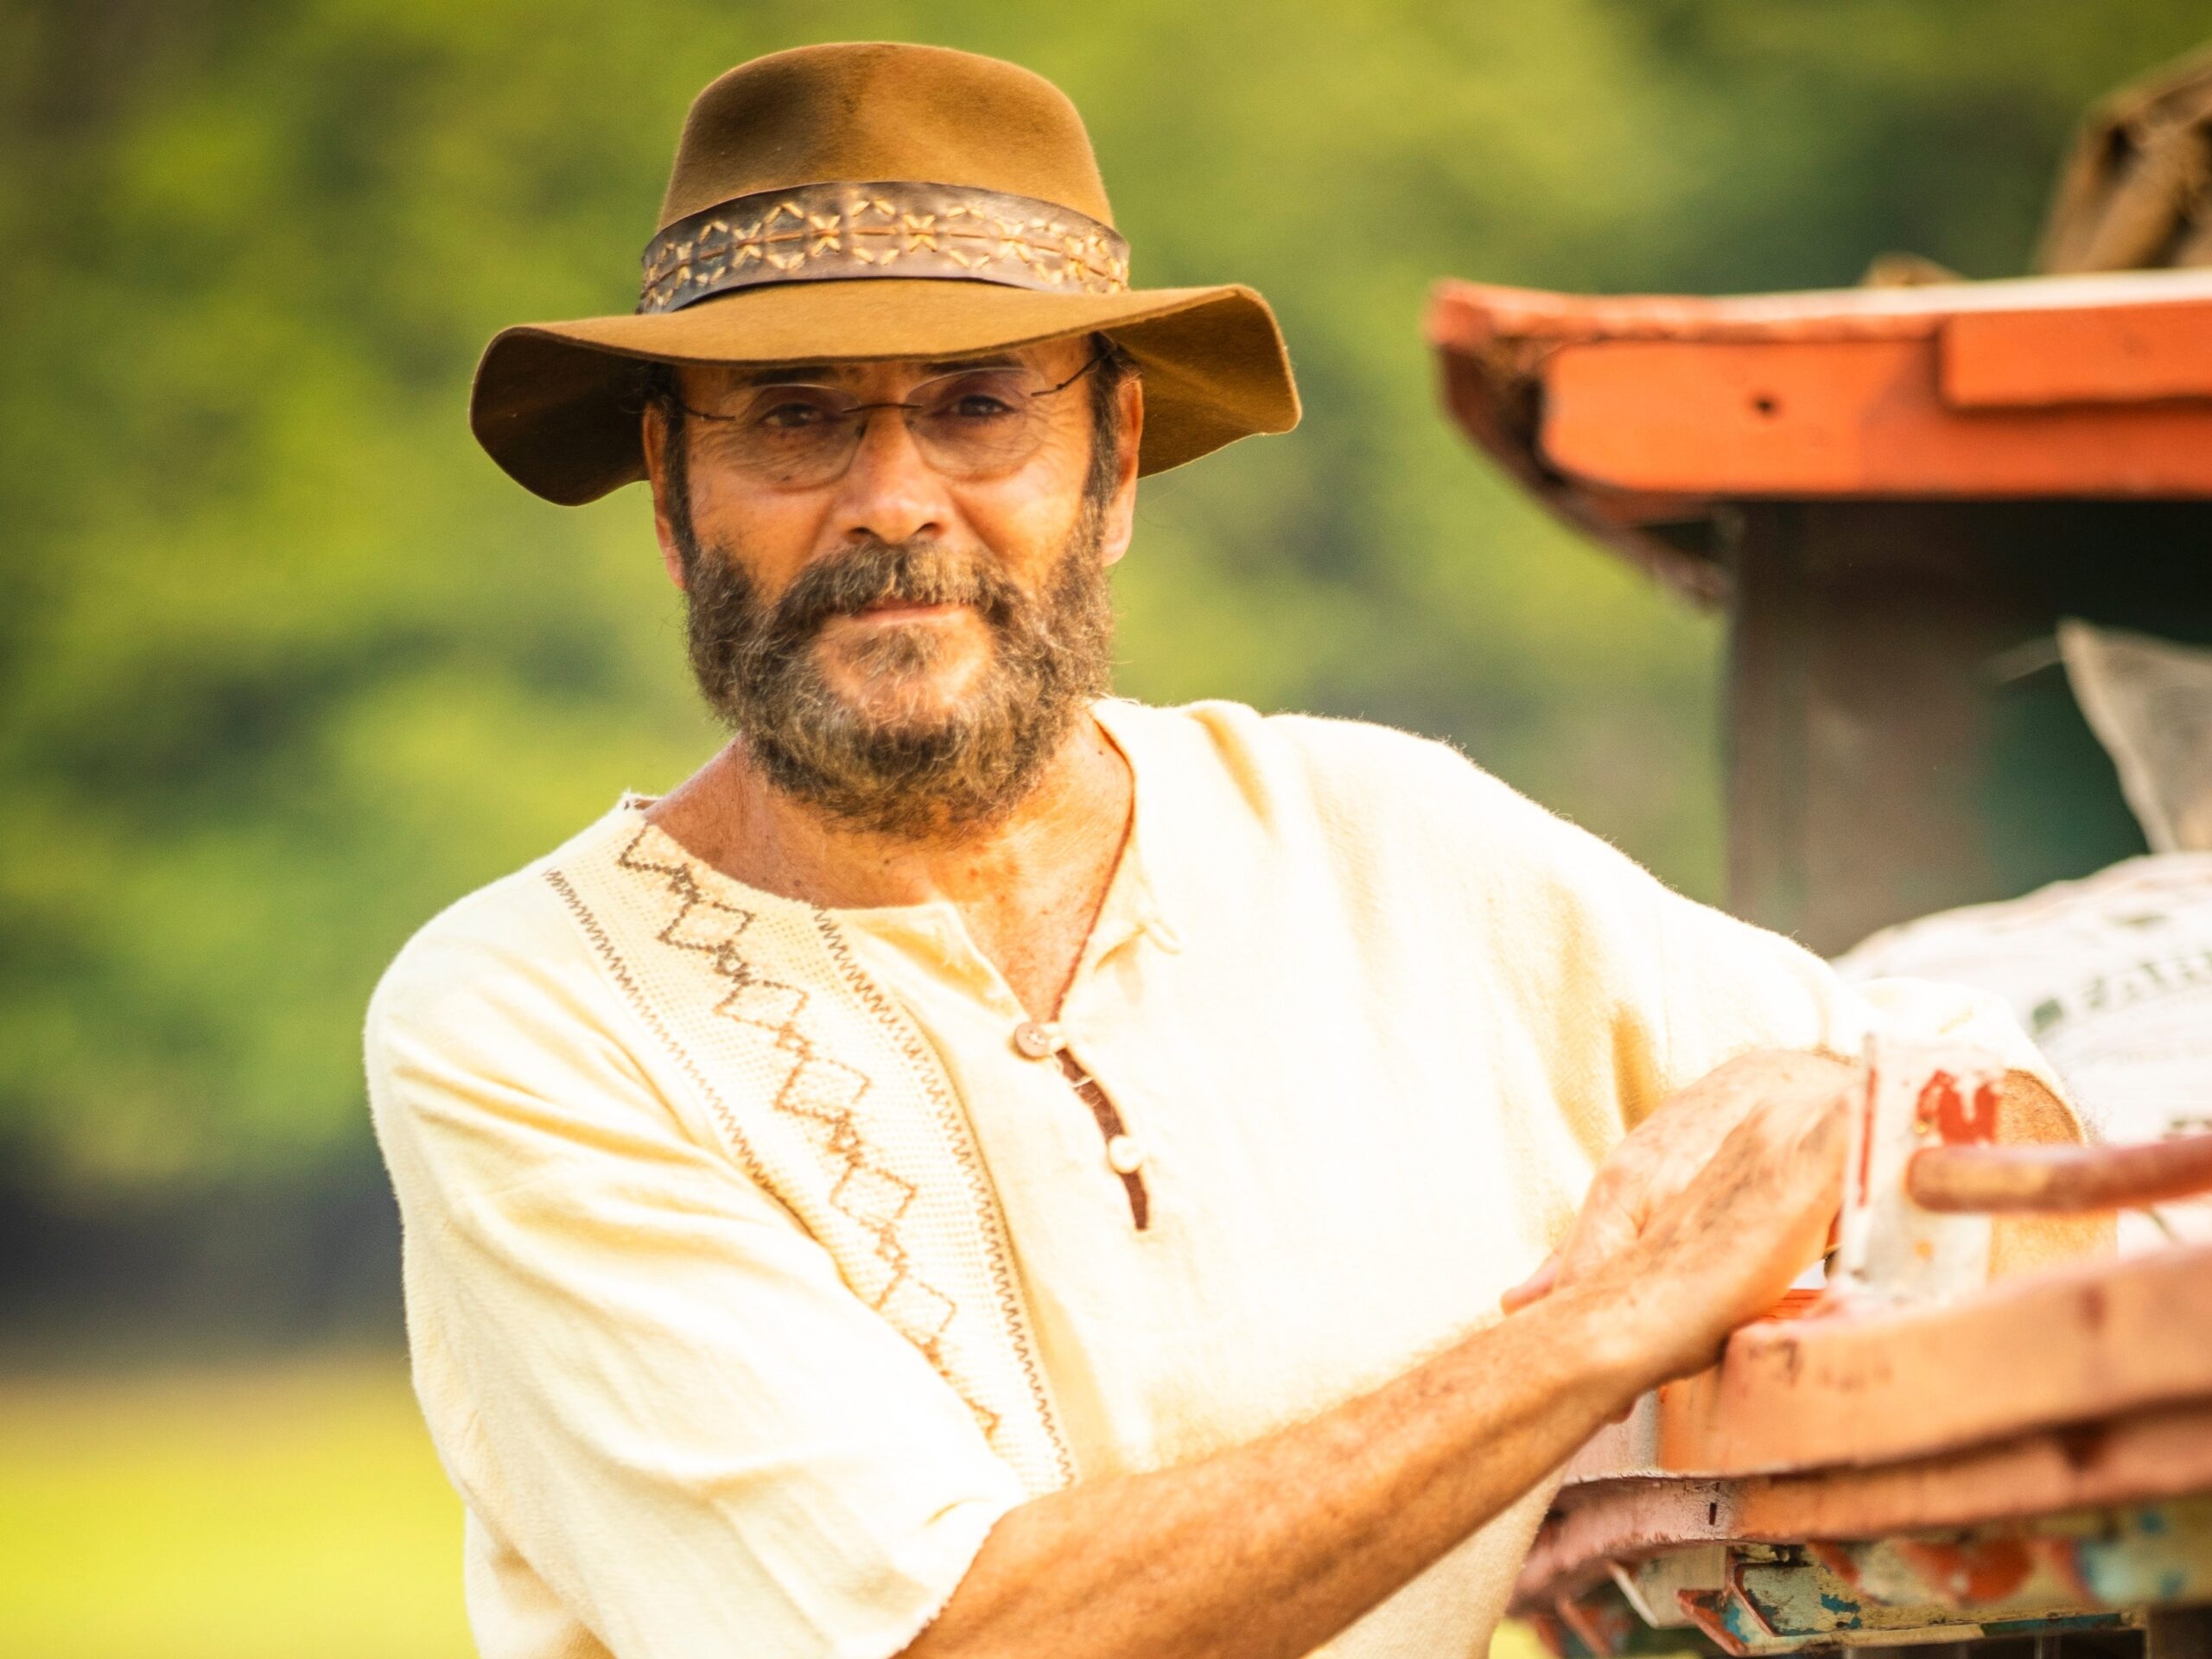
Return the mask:
[[575,507],[646,476],[653,363],[956,358],[1093,332],[1144,372],[1141,471],[1298,422],[1267,301],[1128,285],[1057,86],[942,46],[801,46],[692,102],[637,312],[504,330],[469,425]]

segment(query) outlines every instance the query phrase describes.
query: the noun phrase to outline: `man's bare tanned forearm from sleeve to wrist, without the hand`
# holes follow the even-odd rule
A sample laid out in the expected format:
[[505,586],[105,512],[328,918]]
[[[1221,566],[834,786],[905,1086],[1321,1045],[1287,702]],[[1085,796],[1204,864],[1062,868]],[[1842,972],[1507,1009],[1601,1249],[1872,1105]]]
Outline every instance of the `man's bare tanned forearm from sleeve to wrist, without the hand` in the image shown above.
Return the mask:
[[909,1659],[1303,1655],[1657,1380],[1621,1312],[1562,1292],[1310,1422],[1029,1502]]

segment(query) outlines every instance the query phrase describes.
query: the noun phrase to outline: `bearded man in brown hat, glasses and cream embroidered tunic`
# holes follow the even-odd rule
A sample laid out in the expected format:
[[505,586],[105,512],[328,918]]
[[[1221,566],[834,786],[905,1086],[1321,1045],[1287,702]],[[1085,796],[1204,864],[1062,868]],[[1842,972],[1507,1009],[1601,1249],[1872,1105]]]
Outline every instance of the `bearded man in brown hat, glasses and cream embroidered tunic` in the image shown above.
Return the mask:
[[1818,1254],[1836,1055],[2037,1071],[1442,745],[1108,697],[1139,473],[1294,420],[1068,102],[922,46],[717,80],[637,314],[493,341],[478,438],[650,480],[734,737],[369,1011],[487,1655],[1480,1652]]

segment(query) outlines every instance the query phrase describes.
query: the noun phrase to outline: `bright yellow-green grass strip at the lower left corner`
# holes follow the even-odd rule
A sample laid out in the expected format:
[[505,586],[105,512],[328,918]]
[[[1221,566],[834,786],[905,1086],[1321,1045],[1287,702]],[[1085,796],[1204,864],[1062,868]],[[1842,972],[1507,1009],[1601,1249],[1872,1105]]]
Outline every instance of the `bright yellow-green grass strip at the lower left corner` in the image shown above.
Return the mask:
[[0,1383],[0,1562],[4,1659],[473,1652],[389,1356]]

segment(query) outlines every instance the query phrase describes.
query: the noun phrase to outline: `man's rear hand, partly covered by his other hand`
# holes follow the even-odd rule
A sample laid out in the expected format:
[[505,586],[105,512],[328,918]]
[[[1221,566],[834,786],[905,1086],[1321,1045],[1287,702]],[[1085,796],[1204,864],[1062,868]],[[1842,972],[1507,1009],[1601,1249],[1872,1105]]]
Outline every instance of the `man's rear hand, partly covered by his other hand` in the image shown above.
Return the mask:
[[1699,1077],[1613,1150],[1566,1239],[1504,1294],[1504,1310],[1517,1312],[1562,1285],[1575,1285],[1619,1256],[1699,1181],[1736,1126],[1754,1113],[1778,1115],[1772,1133],[1823,1115],[1843,1124],[1851,1077],[1851,1066],[1840,1060],[1778,1048],[1739,1055]]

